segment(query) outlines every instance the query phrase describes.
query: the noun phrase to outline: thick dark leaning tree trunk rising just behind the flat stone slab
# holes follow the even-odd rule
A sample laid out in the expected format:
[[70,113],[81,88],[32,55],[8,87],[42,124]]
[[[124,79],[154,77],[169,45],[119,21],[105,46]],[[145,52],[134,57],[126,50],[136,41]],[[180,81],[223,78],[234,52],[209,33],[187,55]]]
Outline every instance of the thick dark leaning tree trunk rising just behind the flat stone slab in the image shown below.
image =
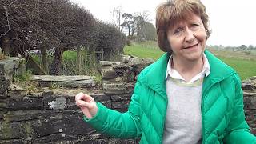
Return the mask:
[[51,64],[50,74],[52,75],[59,75],[60,74],[60,67],[62,63],[62,55],[63,50],[62,48],[56,48],[54,53],[54,61]]

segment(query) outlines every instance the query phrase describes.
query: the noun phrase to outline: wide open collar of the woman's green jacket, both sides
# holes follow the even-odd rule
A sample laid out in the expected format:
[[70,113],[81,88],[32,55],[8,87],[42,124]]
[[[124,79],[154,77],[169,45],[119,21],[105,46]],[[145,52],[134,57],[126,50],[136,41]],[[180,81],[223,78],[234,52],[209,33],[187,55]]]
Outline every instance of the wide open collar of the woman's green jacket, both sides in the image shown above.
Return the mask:
[[[224,62],[216,58],[209,51],[205,50],[206,57],[210,64],[210,74],[204,78],[203,90],[208,90],[216,82],[220,82],[225,78],[230,77],[235,71],[227,66]],[[138,81],[166,97],[166,68],[170,58],[170,54],[163,54],[158,61],[142,70],[139,74]]]

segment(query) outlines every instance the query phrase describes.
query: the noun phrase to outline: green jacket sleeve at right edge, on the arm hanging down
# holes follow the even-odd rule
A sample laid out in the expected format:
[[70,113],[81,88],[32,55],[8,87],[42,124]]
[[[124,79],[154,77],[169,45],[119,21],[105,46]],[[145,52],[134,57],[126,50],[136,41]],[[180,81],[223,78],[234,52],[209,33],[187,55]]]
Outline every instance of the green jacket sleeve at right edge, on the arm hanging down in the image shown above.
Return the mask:
[[227,127],[227,135],[223,139],[224,143],[256,144],[256,137],[250,134],[250,128],[245,120],[241,81],[237,74],[234,75],[234,84],[234,111]]

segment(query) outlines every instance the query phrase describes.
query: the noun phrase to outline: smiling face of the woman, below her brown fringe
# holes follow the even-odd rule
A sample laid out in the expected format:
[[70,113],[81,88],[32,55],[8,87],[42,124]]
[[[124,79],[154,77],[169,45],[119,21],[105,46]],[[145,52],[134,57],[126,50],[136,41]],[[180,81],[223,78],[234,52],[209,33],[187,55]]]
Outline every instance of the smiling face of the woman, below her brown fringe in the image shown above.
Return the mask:
[[196,14],[189,14],[167,31],[174,59],[197,61],[206,47],[206,29]]

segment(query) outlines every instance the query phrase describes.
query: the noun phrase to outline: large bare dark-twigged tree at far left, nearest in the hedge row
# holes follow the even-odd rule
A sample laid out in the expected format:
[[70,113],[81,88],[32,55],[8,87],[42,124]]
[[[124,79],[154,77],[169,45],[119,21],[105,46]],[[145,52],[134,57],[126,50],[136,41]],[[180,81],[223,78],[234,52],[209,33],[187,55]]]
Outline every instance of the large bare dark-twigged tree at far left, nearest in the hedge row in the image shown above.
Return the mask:
[[63,51],[88,45],[94,26],[93,16],[70,0],[2,0],[0,18],[0,46],[5,53],[26,56],[26,50],[41,50],[47,71],[46,50],[54,48],[54,74]]

